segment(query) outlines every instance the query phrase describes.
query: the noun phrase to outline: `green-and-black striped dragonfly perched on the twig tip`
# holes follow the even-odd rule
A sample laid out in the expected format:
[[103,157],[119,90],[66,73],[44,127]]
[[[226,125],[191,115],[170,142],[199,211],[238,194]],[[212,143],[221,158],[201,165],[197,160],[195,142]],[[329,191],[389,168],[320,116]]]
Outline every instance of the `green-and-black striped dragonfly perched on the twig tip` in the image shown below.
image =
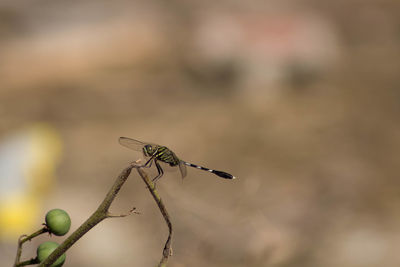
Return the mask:
[[166,146],[161,146],[161,145],[157,145],[157,144],[153,144],[153,143],[141,142],[141,141],[129,138],[129,137],[120,137],[119,143],[121,145],[123,145],[124,147],[127,147],[129,149],[143,153],[145,158],[148,160],[142,167],[150,168],[154,162],[154,164],[156,165],[158,174],[156,177],[153,178],[153,182],[160,179],[164,174],[164,170],[161,168],[160,162],[166,163],[171,167],[179,167],[179,170],[182,175],[182,179],[187,174],[186,166],[197,168],[197,169],[203,170],[203,171],[211,172],[211,173],[213,173],[221,178],[224,178],[224,179],[235,179],[236,178],[235,176],[233,176],[232,174],[229,174],[227,172],[212,170],[209,168],[205,168],[205,167],[202,167],[202,166],[199,166],[196,164],[192,164],[192,163],[183,161],[183,160],[179,159],[176,156],[176,154],[172,150],[167,148]]

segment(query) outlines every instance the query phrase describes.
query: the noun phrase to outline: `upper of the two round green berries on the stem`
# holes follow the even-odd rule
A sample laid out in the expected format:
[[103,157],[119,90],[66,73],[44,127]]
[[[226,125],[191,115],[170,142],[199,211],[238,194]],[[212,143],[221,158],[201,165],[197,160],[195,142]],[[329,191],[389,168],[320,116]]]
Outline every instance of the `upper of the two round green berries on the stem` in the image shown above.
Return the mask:
[[46,214],[46,225],[50,233],[62,236],[68,233],[71,219],[65,210],[53,209]]

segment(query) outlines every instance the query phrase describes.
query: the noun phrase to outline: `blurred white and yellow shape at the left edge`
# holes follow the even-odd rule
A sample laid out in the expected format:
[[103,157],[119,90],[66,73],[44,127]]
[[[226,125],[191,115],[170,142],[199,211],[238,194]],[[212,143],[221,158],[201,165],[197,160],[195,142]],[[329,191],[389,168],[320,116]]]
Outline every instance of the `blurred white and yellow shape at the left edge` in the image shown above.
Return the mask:
[[61,140],[49,125],[35,124],[0,142],[0,239],[34,229],[43,199],[53,186]]

